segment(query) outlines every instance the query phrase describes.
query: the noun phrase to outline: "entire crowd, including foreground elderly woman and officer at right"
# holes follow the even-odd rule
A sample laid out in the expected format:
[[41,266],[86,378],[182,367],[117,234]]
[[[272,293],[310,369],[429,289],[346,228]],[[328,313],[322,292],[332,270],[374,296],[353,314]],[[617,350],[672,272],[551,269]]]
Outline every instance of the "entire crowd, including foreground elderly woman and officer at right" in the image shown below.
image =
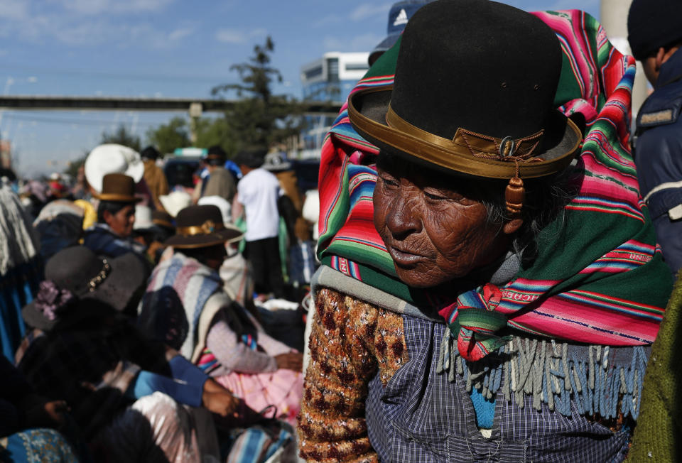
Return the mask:
[[587,13],[408,0],[318,191],[267,147],[4,173],[0,459],[677,461],[676,13],[632,2],[634,136]]

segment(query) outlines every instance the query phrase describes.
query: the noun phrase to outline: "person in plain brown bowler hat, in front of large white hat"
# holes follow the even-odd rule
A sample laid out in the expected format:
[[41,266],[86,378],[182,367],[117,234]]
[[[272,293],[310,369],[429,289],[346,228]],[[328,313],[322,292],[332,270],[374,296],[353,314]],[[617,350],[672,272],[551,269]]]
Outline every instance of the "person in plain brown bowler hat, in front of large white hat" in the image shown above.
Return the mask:
[[97,223],[85,231],[83,244],[99,256],[118,257],[134,252],[144,256],[145,246],[131,239],[135,223],[135,181],[122,173],[104,175]]

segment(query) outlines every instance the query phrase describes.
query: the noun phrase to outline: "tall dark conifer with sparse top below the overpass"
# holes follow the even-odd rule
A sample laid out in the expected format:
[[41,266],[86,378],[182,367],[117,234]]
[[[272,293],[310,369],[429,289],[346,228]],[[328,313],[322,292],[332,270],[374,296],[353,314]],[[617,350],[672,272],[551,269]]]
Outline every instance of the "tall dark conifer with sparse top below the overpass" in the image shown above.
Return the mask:
[[303,124],[301,104],[284,94],[273,94],[274,82],[281,82],[280,72],[271,66],[275,45],[268,37],[263,45],[254,46],[254,54],[247,62],[230,67],[239,74],[241,82],[219,85],[214,95],[235,92],[239,100],[224,114],[224,126],[215,121],[224,141],[220,143],[228,153],[251,146],[268,147],[300,133]]

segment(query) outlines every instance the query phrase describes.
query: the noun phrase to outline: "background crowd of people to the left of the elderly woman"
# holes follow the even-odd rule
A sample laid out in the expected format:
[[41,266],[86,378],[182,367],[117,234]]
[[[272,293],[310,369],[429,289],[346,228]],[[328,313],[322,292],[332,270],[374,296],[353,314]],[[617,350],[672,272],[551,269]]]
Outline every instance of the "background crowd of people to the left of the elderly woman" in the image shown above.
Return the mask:
[[[73,187],[4,173],[0,404],[11,461],[295,454],[298,305],[310,279],[286,280],[279,243],[300,241],[286,233],[301,193],[287,209],[276,174],[294,188],[296,175],[254,150],[234,159],[237,178],[215,146],[195,190],[171,191],[160,157],[97,146]],[[278,307],[288,336],[269,333]]]

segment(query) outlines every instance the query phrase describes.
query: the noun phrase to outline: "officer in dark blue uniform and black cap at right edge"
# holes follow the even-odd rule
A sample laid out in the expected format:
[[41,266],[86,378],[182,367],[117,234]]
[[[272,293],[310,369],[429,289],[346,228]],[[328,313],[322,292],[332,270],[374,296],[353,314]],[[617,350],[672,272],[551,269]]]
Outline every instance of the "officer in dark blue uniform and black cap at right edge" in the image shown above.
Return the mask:
[[632,54],[654,87],[637,116],[637,178],[675,274],[682,267],[682,1],[634,0],[627,28]]

